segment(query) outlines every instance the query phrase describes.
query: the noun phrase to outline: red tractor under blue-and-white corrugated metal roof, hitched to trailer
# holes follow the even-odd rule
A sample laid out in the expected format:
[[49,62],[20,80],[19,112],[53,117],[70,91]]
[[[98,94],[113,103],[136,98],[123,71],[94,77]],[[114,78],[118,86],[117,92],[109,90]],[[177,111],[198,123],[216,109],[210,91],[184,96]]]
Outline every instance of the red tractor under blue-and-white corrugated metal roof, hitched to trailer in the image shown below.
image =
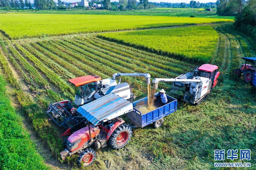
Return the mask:
[[[49,111],[55,112],[55,115],[63,114],[64,107],[57,103],[54,107],[50,107]],[[104,148],[108,142],[115,150],[125,147],[132,136],[132,130],[118,116],[132,110],[133,104],[131,102],[113,93],[80,106],[77,111],[74,111],[77,112],[78,116],[69,120],[76,122],[83,118],[81,122],[85,127],[71,135],[69,128],[63,134],[70,136],[64,142],[65,150],[60,153],[62,160],[73,154],[78,154],[77,165],[87,167],[92,164],[96,157],[96,152],[92,148],[88,148],[89,146],[94,146],[96,149]],[[62,118],[66,119],[65,117]]]

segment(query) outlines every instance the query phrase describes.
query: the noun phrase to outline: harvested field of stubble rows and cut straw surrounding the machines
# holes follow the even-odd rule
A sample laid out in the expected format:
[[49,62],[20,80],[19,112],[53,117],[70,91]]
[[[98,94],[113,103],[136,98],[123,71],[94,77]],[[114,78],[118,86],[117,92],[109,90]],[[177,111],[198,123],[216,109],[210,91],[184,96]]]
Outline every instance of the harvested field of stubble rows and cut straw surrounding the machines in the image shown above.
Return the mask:
[[[240,66],[242,57],[254,54],[254,45],[248,37],[232,34],[230,29],[216,25],[219,39],[212,64],[219,66],[221,75],[207,100],[198,107],[179,101],[177,112],[167,116],[161,128],[149,125],[133,129],[126,148],[98,150],[95,163],[86,169],[212,169],[214,149],[242,147],[251,149],[251,155],[255,155],[255,88],[228,75]],[[59,137],[63,129],[49,121],[45,113],[50,102],[73,100],[67,79],[89,74],[108,78],[116,72],[146,72],[159,78],[173,78],[195,66],[95,36],[26,43],[1,41],[0,50],[4,56],[0,55],[3,72],[17,89],[18,103],[38,139],[50,150],[51,160],[56,160],[54,169],[78,169],[76,156],[63,163],[57,159],[63,149],[65,138]],[[124,76],[121,80],[135,86],[133,93],[137,99],[146,97],[144,78]],[[20,88],[24,84],[28,89]],[[161,82],[159,88],[169,94],[171,84]],[[255,164],[254,160],[255,157],[251,163]]]

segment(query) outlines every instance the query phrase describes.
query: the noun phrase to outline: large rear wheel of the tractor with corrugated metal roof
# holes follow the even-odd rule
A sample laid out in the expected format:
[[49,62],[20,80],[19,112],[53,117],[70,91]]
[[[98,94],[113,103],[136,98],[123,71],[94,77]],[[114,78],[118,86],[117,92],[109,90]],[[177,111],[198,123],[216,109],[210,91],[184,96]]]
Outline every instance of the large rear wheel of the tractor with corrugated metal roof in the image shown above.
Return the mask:
[[124,147],[131,140],[131,127],[127,124],[118,126],[109,138],[109,144],[115,150]]

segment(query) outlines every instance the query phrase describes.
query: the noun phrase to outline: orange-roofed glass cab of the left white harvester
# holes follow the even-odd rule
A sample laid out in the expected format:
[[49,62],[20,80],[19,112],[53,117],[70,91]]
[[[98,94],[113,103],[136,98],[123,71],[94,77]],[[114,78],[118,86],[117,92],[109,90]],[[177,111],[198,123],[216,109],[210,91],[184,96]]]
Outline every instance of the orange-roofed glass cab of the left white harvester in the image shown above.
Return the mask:
[[98,91],[97,81],[101,80],[100,76],[89,75],[68,80],[75,90],[75,104],[83,105],[94,100],[93,94]]

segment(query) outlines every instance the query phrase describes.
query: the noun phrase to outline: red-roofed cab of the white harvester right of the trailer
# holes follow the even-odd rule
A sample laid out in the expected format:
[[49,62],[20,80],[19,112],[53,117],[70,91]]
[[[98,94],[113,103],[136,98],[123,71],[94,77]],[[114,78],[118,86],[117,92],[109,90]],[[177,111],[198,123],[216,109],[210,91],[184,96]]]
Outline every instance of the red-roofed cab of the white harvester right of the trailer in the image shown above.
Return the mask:
[[[211,64],[203,64],[195,70],[197,76],[206,77],[210,79],[212,88],[217,84],[220,72],[217,70],[218,66]],[[213,83],[212,83],[213,82]]]

